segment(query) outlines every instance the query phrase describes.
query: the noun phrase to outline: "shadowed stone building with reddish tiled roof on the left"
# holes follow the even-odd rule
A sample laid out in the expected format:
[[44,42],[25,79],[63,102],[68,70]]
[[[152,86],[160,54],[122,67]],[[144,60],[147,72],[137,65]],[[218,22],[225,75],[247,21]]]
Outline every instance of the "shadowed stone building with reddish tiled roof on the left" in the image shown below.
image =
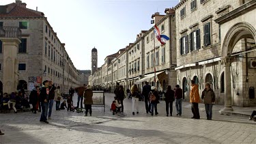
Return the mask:
[[[70,86],[80,85],[79,72],[68,56],[65,44],[60,42],[42,12],[27,9],[22,1],[0,7],[0,27],[19,27],[22,33],[16,57],[18,89],[31,90],[33,85],[42,85],[46,79],[60,86],[63,92],[68,92]],[[1,46],[0,63],[4,61],[3,49]],[[0,78],[3,79],[2,72]]]

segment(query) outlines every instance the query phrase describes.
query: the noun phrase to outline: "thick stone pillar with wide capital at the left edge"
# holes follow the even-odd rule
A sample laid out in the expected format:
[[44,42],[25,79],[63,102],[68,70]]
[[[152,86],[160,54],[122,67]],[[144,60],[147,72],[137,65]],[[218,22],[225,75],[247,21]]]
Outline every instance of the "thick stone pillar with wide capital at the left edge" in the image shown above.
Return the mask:
[[1,38],[3,42],[3,92],[12,93],[18,85],[18,38]]

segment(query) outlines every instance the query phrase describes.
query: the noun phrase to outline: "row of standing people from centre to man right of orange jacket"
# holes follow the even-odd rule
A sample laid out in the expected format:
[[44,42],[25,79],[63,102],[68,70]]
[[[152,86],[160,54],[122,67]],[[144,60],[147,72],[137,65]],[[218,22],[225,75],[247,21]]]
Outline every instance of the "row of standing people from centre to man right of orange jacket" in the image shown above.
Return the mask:
[[[114,113],[117,111],[124,112],[124,87],[116,83],[115,88],[115,100],[111,104],[111,110]],[[135,113],[139,113],[139,89],[136,84],[132,85],[130,91],[127,93],[132,97],[132,115]],[[148,82],[145,82],[143,86],[142,95],[144,97],[145,102],[145,110],[146,113],[151,113],[151,115],[158,115],[157,104],[159,103],[160,96],[156,87],[150,86]],[[165,92],[165,103],[166,103],[166,115],[172,116],[173,115],[173,102],[175,101],[175,107],[177,114],[182,115],[182,98],[183,92],[180,88],[180,85],[176,85],[175,89],[171,89],[171,85],[167,87],[167,91]],[[215,102],[215,93],[211,89],[210,84],[205,84],[205,89],[201,93],[201,99],[204,101],[205,104],[205,113],[207,115],[208,120],[212,120],[212,106]],[[191,103],[191,111],[193,113],[192,119],[200,119],[199,114],[199,102],[200,102],[200,95],[199,95],[199,87],[195,83],[194,80],[191,81],[191,90],[190,90],[190,103]]]

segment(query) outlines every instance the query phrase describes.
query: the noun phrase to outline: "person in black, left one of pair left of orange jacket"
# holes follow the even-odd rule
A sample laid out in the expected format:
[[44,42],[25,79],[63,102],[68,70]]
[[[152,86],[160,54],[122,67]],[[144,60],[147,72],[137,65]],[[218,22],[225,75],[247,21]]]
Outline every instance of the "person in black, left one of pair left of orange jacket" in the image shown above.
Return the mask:
[[171,85],[168,85],[167,91],[165,92],[165,109],[167,117],[169,116],[169,108],[170,115],[173,116],[173,101],[174,101],[174,91],[171,89]]

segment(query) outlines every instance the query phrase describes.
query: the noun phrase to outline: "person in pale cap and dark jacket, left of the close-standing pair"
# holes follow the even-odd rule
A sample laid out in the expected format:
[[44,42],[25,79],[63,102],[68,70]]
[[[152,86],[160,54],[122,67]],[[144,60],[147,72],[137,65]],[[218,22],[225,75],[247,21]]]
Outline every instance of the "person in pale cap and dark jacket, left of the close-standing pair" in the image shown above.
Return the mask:
[[158,115],[157,112],[157,104],[159,103],[159,98],[158,98],[158,92],[156,91],[156,87],[152,86],[151,91],[149,94],[150,97],[150,105],[151,105],[151,115],[154,115],[154,109],[155,109],[155,115]]

